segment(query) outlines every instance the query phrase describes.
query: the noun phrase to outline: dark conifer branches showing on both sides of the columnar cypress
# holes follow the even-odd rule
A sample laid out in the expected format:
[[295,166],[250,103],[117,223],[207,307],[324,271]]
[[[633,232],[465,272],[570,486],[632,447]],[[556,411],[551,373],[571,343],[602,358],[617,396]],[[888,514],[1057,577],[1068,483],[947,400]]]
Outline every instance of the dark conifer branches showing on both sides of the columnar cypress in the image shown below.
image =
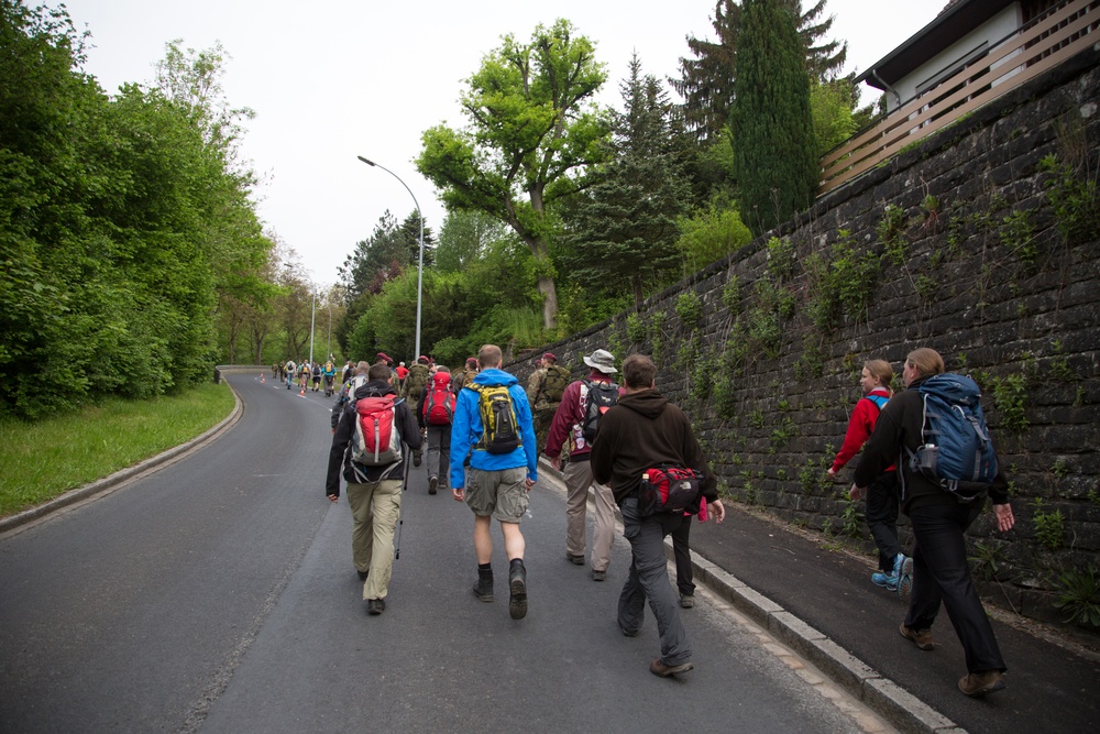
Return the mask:
[[[833,28],[832,15],[822,19],[825,2],[818,0],[803,12],[801,0],[780,0],[780,4],[798,15],[806,70],[822,83],[837,78],[848,55],[847,42],[821,41]],[[744,3],[736,0],[717,0],[711,20],[717,41],[688,36],[688,47],[695,58],[681,58],[681,78],[672,79],[673,88],[684,99],[688,127],[703,141],[717,140],[729,122],[743,8]]]

